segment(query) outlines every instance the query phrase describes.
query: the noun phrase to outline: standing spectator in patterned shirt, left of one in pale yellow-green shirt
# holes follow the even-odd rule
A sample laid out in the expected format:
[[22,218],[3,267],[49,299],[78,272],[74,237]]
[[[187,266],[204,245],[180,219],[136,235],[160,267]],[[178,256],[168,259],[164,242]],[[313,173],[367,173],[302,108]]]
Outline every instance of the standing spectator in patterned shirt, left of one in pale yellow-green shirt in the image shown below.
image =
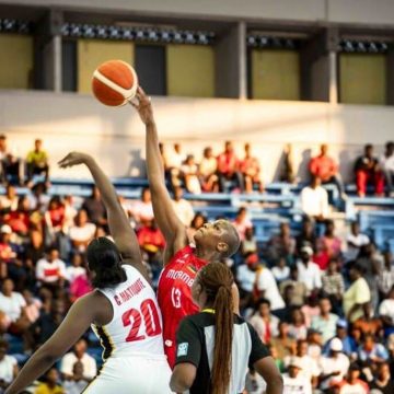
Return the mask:
[[338,271],[338,260],[336,258],[329,260],[327,270],[322,276],[322,290],[329,298],[333,311],[337,314],[340,313],[345,281],[343,275]]

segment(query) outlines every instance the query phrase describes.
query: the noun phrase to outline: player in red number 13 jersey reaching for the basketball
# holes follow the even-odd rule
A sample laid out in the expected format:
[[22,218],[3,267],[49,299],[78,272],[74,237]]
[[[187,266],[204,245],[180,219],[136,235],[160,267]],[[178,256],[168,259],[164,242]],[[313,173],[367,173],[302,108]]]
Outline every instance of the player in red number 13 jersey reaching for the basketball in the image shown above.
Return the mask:
[[[186,228],[177,218],[165,186],[164,169],[150,97],[141,88],[138,103],[131,103],[147,128],[147,166],[154,218],[162,231],[166,248],[164,268],[158,286],[158,301],[163,315],[164,350],[170,367],[175,362],[175,333],[181,320],[198,312],[192,299],[192,285],[197,271],[210,262],[232,256],[240,247],[240,236],[227,220],[206,223],[194,236],[196,247],[189,245]],[[233,287],[235,311],[239,293]]]

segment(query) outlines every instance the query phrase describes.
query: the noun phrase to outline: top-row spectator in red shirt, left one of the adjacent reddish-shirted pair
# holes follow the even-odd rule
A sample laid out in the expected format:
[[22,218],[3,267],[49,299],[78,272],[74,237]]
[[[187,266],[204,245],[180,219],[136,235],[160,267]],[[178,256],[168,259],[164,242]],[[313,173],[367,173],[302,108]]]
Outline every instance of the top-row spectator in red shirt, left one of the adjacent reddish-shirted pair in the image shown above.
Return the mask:
[[240,172],[240,161],[234,152],[232,142],[225,141],[224,152],[218,155],[218,176],[220,192],[225,190],[225,181],[233,181],[236,187],[244,190],[244,179]]

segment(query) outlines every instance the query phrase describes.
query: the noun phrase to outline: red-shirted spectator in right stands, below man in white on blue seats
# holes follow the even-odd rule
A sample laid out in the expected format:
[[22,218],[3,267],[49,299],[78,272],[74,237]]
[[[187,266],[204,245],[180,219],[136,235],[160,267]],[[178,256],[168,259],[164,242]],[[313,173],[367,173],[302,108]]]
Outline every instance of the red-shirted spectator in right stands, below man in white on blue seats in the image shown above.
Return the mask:
[[314,262],[322,270],[325,270],[332,258],[341,256],[341,240],[334,234],[335,224],[333,220],[325,221],[324,235],[317,240]]

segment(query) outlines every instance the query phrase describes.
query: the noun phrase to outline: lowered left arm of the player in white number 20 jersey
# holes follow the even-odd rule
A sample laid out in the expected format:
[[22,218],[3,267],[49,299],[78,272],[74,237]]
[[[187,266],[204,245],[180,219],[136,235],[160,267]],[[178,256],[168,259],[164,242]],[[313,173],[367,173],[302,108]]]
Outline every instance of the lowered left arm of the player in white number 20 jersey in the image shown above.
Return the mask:
[[111,322],[112,306],[105,296],[97,291],[80,298],[71,306],[66,318],[54,335],[28,359],[7,394],[18,394],[42,376],[86,332],[92,323]]

